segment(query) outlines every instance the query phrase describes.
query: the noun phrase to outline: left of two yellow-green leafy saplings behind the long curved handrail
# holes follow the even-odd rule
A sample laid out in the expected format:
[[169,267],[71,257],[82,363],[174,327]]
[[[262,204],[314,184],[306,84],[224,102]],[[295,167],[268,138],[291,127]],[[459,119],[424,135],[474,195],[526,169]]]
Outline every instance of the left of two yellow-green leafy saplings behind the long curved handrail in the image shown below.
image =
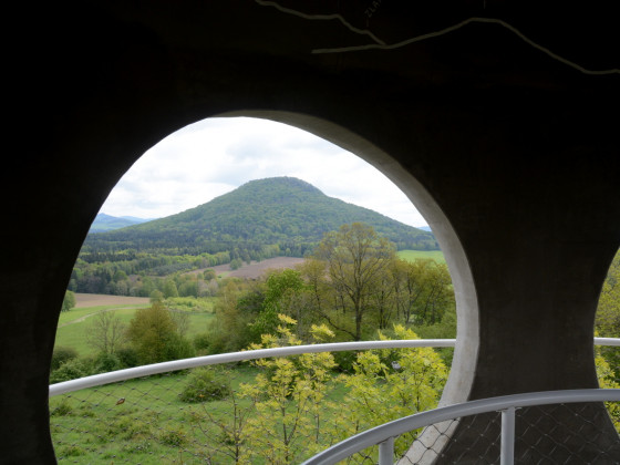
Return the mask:
[[[299,345],[294,334],[297,322],[278,316],[276,335],[265,334],[260,344],[250,349]],[[311,329],[316,341],[331,339],[324,326]],[[331,370],[335,366],[330,353],[307,353],[294,358],[262,359],[254,362],[264,368],[251,384],[241,384],[241,395],[251,400],[256,414],[245,427],[246,442],[252,462],[270,464],[298,463],[300,454],[317,453],[338,437],[350,432],[349,423],[337,415],[329,421],[327,411],[337,405],[327,399],[333,385]],[[343,433],[340,430],[347,430]]]

